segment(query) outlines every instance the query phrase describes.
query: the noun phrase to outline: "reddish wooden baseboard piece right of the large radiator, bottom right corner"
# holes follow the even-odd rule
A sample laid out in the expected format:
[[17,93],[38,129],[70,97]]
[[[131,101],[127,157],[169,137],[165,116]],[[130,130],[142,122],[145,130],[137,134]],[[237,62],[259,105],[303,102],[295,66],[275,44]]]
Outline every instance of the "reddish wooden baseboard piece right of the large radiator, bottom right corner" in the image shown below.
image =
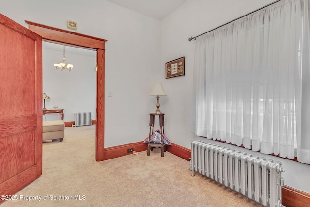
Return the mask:
[[289,186],[282,187],[282,204],[286,207],[306,207],[310,205],[310,194]]

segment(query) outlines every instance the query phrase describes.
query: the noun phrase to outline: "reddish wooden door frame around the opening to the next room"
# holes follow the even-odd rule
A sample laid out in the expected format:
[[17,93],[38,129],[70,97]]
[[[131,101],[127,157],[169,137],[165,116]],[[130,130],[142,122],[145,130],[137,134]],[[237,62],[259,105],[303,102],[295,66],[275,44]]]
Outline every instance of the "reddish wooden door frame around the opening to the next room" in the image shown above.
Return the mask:
[[96,161],[104,160],[105,42],[107,40],[25,20],[42,41],[96,50]]

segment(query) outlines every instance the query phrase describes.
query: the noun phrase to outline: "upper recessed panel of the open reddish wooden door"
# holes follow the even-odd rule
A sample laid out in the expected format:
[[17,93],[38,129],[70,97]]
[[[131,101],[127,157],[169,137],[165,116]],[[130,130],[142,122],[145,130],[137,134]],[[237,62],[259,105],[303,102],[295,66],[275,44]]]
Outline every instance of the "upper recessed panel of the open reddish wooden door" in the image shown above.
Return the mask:
[[[0,118],[34,114],[36,63],[27,56],[35,57],[35,42],[4,25],[0,25],[0,33]],[[3,39],[5,34],[9,36]]]

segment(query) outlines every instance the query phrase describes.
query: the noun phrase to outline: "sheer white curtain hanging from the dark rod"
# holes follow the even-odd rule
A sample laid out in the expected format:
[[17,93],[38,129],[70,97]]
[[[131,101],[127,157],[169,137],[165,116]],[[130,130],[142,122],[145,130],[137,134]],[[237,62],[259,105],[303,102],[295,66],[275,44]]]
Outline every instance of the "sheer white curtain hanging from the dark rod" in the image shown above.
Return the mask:
[[197,38],[195,133],[310,163],[309,35],[308,0],[282,0]]

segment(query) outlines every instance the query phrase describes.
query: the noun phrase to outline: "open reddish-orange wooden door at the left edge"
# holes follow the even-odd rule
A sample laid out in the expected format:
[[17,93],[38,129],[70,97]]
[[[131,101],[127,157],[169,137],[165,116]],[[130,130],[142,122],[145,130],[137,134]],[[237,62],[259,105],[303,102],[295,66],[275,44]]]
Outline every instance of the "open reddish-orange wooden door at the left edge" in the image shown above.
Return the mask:
[[12,195],[42,175],[41,36],[0,14],[0,60],[0,195]]

